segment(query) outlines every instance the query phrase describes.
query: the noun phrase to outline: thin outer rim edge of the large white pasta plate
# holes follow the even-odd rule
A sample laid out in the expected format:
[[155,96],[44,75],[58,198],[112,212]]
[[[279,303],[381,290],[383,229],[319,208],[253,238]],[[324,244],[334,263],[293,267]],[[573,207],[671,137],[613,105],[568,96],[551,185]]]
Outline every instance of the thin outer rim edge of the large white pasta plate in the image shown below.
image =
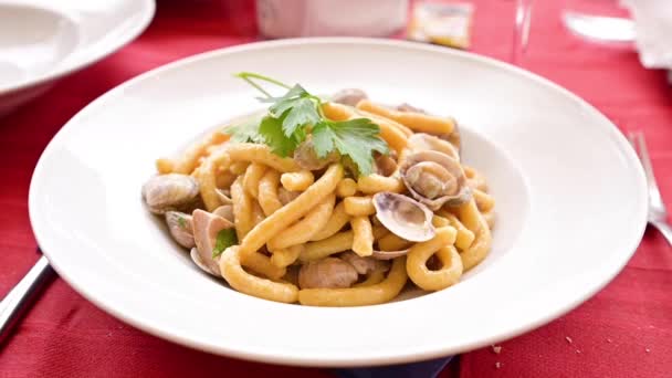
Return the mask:
[[[505,71],[513,72],[517,75],[525,76],[526,78],[532,80],[532,81],[536,82],[537,84],[542,84],[543,86],[549,87],[549,90],[561,93],[564,96],[567,96],[567,97],[571,98],[573,101],[577,102],[578,104],[580,104],[581,107],[588,109],[595,116],[598,116],[599,118],[602,118],[602,120],[606,120],[605,126],[607,126],[610,134],[613,137],[616,137],[616,139],[618,139],[616,141],[621,145],[622,151],[626,153],[630,159],[632,159],[632,158],[638,159],[637,155],[634,155],[634,150],[632,149],[630,144],[627,141],[627,139],[622,135],[622,133],[618,129],[618,127],[609,118],[607,118],[601,112],[599,112],[596,107],[594,107],[591,104],[589,104],[587,101],[580,98],[578,95],[576,95],[576,94],[571,93],[570,91],[564,88],[563,86],[549,81],[548,78],[545,78],[545,77],[534,74],[532,72],[525,71],[521,67],[511,65],[506,62],[497,61],[492,57],[477,55],[477,54],[471,53],[471,52],[447,50],[445,48],[441,48],[441,46],[423,45],[423,44],[408,42],[408,41],[371,39],[371,38],[342,38],[342,36],[297,38],[297,39],[285,39],[285,40],[245,43],[245,44],[241,44],[241,45],[217,49],[213,51],[208,51],[208,52],[195,54],[191,56],[187,56],[187,57],[160,65],[160,66],[149,70],[138,76],[135,76],[135,77],[113,87],[112,90],[107,91],[105,94],[101,95],[99,97],[95,98],[92,103],[90,103],[82,111],[80,111],[77,114],[75,114],[56,133],[56,135],[54,135],[54,137],[50,140],[49,145],[46,146],[46,148],[40,156],[40,159],[35,166],[33,175],[31,177],[31,185],[30,185],[30,191],[29,191],[30,222],[31,222],[31,225],[33,227],[33,230],[35,233],[35,239],[38,240],[39,244],[42,245],[42,248],[44,249],[43,251],[44,251],[44,254],[48,256],[48,259],[50,258],[50,254],[51,254],[50,248],[49,248],[49,245],[42,244],[42,241],[44,238],[42,238],[38,234],[39,232],[35,230],[35,227],[34,227],[35,219],[38,218],[38,214],[34,212],[35,207],[36,207],[35,196],[36,196],[38,189],[35,189],[33,183],[35,182],[35,177],[40,176],[41,171],[43,170],[42,167],[44,165],[45,156],[50,155],[49,153],[51,151],[51,149],[55,148],[54,146],[56,146],[57,141],[65,135],[65,130],[67,130],[75,120],[78,120],[80,117],[87,114],[87,112],[91,107],[97,106],[98,103],[105,102],[109,95],[116,94],[117,92],[122,92],[127,86],[134,85],[136,82],[145,81],[155,75],[160,75],[165,71],[170,71],[170,70],[179,67],[181,65],[188,65],[195,61],[208,60],[208,59],[211,59],[211,57],[218,56],[218,55],[235,54],[235,53],[241,53],[241,52],[245,52],[245,51],[250,51],[250,50],[254,51],[254,50],[263,50],[265,48],[295,46],[295,45],[301,45],[301,44],[306,44],[306,43],[307,44],[317,44],[317,45],[319,45],[319,44],[324,45],[324,44],[330,44],[330,43],[334,43],[334,44],[356,43],[356,44],[361,44],[361,45],[387,45],[387,46],[401,46],[401,48],[407,48],[407,49],[418,49],[418,50],[430,51],[430,52],[439,52],[441,54],[447,54],[447,55],[456,55],[456,56],[461,56],[461,57],[466,57],[470,60],[474,60],[479,63],[484,63],[484,64],[491,65],[493,67],[498,67],[498,69],[502,69]],[[637,160],[637,161],[639,161],[639,160]],[[180,335],[176,332],[172,332],[172,330],[166,330],[166,329],[161,329],[159,327],[154,327],[146,318],[139,318],[139,317],[133,318],[130,316],[126,316],[122,312],[115,309],[113,306],[108,306],[105,303],[105,301],[102,301],[102,300],[98,300],[97,297],[95,297],[94,293],[91,293],[86,287],[83,287],[82,285],[78,285],[75,282],[72,282],[72,280],[70,280],[70,277],[67,277],[66,275],[61,275],[61,269],[60,269],[59,264],[52,264],[52,266],[56,270],[56,272],[59,272],[59,274],[61,275],[61,277],[63,277],[63,280],[65,280],[73,288],[75,288],[75,291],[77,293],[83,295],[87,301],[92,302],[97,307],[102,308],[104,312],[113,315],[114,317],[116,317],[125,323],[133,325],[134,327],[136,327],[138,329],[141,329],[143,332],[147,332],[148,334],[161,337],[164,339],[167,339],[167,340],[170,340],[174,343],[178,343],[180,345],[185,345],[185,346],[195,348],[197,350],[203,350],[203,351],[208,351],[208,353],[212,353],[212,354],[224,355],[224,356],[241,358],[241,359],[245,359],[245,360],[256,361],[256,363],[270,363],[270,364],[282,364],[282,365],[294,365],[294,366],[311,366],[311,367],[378,366],[378,365],[390,365],[390,364],[403,364],[403,363],[411,363],[411,361],[418,361],[418,360],[424,360],[424,359],[431,359],[431,358],[438,358],[438,357],[445,357],[451,354],[473,350],[479,347],[487,346],[487,345],[492,344],[493,342],[497,342],[501,339],[508,339],[508,338],[522,335],[532,329],[538,328],[539,326],[543,326],[543,325],[552,322],[553,319],[556,319],[556,318],[567,314],[568,312],[573,311],[578,305],[580,305],[581,303],[584,303],[587,300],[589,300],[590,297],[592,297],[598,291],[603,288],[608,283],[610,283],[613,280],[613,277],[622,271],[624,265],[631,259],[632,254],[634,254],[634,252],[637,251],[637,248],[643,237],[645,225],[647,225],[645,203],[648,203],[648,202],[647,202],[647,191],[645,191],[645,187],[647,187],[645,186],[645,176],[643,172],[643,168],[641,167],[640,164],[633,165],[633,169],[636,170],[636,172],[634,172],[636,176],[638,176],[638,178],[639,178],[637,180],[637,182],[633,182],[633,185],[639,187],[638,189],[640,190],[640,195],[641,195],[641,198],[639,198],[639,200],[640,200],[640,203],[642,203],[642,206],[639,208],[639,214],[638,214],[639,217],[637,217],[638,219],[634,219],[636,222],[632,223],[633,224],[632,240],[630,240],[629,244],[623,249],[623,251],[630,251],[630,252],[627,253],[627,255],[626,255],[626,253],[623,254],[623,261],[618,264],[618,269],[615,269],[615,271],[611,272],[610,274],[606,274],[603,277],[598,280],[599,282],[596,281],[596,283],[589,290],[586,290],[582,292],[582,295],[577,295],[573,301],[566,301],[565,303],[563,303],[561,306],[557,306],[557,308],[555,308],[554,311],[546,312],[544,316],[538,316],[537,318],[526,322],[525,324],[518,325],[517,327],[510,327],[505,332],[500,332],[500,333],[490,335],[490,337],[487,339],[481,339],[479,342],[463,344],[459,348],[433,347],[430,350],[428,350],[426,348],[426,349],[422,349],[421,351],[400,351],[400,353],[397,353],[393,355],[387,355],[387,356],[374,356],[374,357],[371,357],[371,356],[364,356],[364,357],[348,356],[347,358],[345,358],[343,356],[335,356],[335,357],[327,357],[327,358],[324,358],[324,357],[318,358],[318,357],[302,357],[302,356],[287,356],[287,355],[280,355],[280,354],[271,354],[263,349],[255,350],[255,351],[240,350],[240,349],[235,349],[231,346],[223,346],[221,344],[212,345],[212,344],[208,344],[208,343],[193,340],[188,337],[183,337],[182,335]],[[639,229],[637,229],[638,224],[639,224]]]

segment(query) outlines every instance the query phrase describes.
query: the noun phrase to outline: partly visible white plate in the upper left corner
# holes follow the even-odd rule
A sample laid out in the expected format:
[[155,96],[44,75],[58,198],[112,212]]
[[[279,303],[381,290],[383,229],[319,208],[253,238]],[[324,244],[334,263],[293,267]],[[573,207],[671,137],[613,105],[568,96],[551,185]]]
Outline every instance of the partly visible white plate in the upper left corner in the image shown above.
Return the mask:
[[0,115],[134,40],[154,0],[0,0]]

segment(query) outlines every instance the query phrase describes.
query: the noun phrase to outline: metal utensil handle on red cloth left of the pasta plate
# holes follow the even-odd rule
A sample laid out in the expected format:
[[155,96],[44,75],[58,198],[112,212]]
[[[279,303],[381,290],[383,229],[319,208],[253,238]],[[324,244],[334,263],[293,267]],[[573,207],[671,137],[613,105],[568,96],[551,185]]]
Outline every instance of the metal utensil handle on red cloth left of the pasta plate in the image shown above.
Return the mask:
[[2,344],[14,325],[21,318],[23,311],[31,303],[31,297],[53,273],[44,255],[31,267],[19,283],[0,302],[0,344]]

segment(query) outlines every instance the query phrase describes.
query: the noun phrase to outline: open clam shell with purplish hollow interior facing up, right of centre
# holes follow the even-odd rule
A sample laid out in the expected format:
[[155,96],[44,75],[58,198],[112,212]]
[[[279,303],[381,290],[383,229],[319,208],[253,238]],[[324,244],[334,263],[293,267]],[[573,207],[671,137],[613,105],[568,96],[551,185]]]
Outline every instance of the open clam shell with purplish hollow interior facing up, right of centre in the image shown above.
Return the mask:
[[374,196],[376,217],[391,233],[413,242],[434,237],[433,213],[410,197],[381,191]]

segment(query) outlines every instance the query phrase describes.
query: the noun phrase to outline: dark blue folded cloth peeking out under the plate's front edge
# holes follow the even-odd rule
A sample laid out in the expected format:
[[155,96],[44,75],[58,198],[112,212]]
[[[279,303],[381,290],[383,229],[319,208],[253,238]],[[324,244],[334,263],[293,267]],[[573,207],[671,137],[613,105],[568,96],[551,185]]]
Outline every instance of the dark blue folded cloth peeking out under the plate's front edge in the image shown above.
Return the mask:
[[434,378],[451,359],[443,357],[406,365],[338,369],[336,375],[342,378]]

